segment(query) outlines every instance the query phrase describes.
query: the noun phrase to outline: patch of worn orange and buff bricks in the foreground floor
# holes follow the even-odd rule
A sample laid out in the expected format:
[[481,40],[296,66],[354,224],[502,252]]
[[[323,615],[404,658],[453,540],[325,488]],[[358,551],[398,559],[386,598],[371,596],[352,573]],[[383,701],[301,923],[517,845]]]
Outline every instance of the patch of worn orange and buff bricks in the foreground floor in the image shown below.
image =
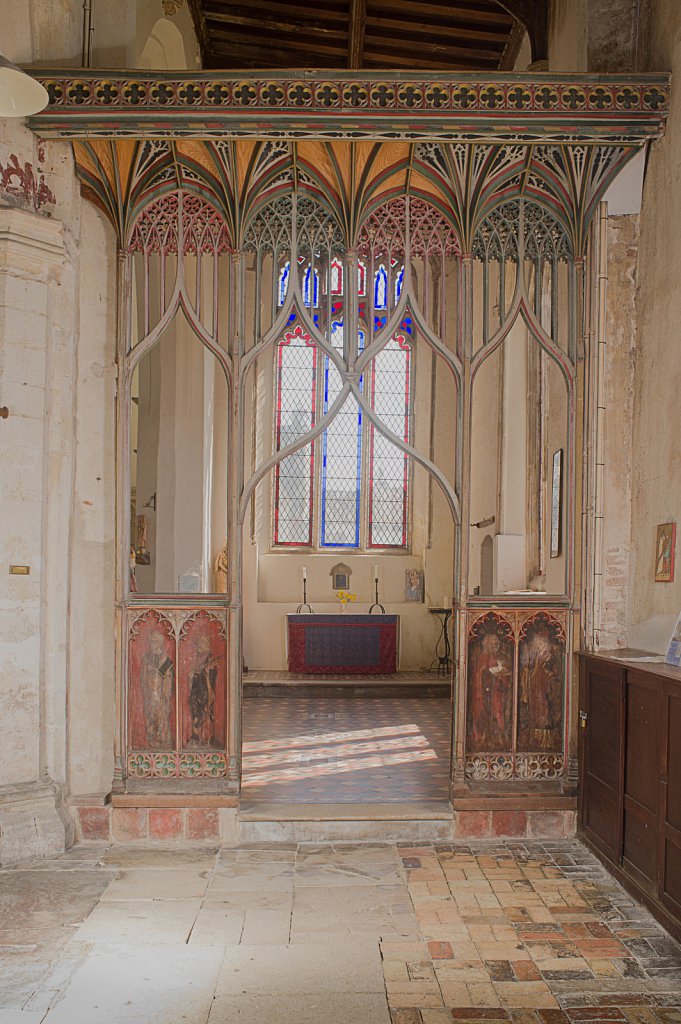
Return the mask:
[[393,1024],[681,1024],[681,949],[581,844],[398,854],[419,939],[381,944]]

